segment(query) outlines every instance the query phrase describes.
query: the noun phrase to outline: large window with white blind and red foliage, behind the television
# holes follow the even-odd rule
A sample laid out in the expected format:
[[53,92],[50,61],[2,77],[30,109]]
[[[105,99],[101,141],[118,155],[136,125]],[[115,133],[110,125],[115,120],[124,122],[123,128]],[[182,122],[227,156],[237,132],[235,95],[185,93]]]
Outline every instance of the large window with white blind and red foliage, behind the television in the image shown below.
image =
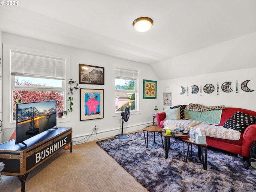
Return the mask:
[[64,110],[65,59],[10,50],[12,120],[16,103],[57,100]]

